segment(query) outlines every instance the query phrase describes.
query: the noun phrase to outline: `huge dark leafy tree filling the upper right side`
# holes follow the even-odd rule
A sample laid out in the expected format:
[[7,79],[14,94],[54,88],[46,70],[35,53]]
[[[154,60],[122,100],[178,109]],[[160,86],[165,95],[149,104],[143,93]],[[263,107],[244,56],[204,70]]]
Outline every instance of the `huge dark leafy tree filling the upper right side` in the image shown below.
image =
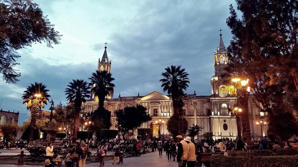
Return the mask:
[[[227,25],[233,40],[229,51],[242,62],[256,100],[269,114],[271,133],[277,134],[276,116],[285,91],[298,89],[297,1],[237,0],[241,19],[230,5]],[[282,63],[281,63],[282,62]],[[244,64],[245,63],[245,64]]]

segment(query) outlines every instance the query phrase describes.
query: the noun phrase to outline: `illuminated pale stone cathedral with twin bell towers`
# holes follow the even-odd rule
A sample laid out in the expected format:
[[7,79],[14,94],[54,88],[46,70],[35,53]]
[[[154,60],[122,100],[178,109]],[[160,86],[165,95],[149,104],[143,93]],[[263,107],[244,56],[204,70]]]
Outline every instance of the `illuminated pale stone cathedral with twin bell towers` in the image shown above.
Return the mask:
[[[237,97],[229,96],[225,91],[227,85],[224,81],[228,78],[223,75],[226,71],[224,68],[229,65],[228,52],[224,46],[220,34],[220,41],[217,50],[214,51],[214,69],[215,75],[211,77],[211,95],[199,96],[195,92],[187,94],[184,100],[183,114],[189,122],[189,126],[200,125],[204,127],[203,130],[195,138],[204,138],[205,132],[211,132],[214,139],[218,138],[232,138],[237,137],[237,121],[236,117],[232,116],[229,108],[232,109],[233,105],[237,104]],[[98,61],[98,70],[106,70],[110,72],[111,61],[108,59],[106,47],[101,60]],[[124,109],[127,106],[142,105],[148,110],[148,114],[152,116],[152,120],[142,124],[141,128],[152,128],[152,136],[162,136],[167,139],[170,134],[167,131],[167,120],[174,114],[173,102],[171,96],[164,95],[159,92],[152,92],[145,96],[129,96],[118,98],[113,97],[113,92],[107,95],[104,107],[111,112],[112,127],[115,129],[114,111]],[[256,122],[263,119],[264,114],[260,112],[256,103],[253,100],[253,95],[249,96],[249,114],[250,114],[250,127],[252,138],[257,140],[258,137],[266,135],[267,127],[262,127],[263,134],[261,134],[261,127],[256,125]],[[91,95],[91,99],[87,101],[84,106],[85,112],[94,111],[98,107],[98,99]],[[163,125],[156,124],[159,119],[164,121]],[[131,136],[135,138],[135,136]],[[130,138],[131,138],[130,137]]]

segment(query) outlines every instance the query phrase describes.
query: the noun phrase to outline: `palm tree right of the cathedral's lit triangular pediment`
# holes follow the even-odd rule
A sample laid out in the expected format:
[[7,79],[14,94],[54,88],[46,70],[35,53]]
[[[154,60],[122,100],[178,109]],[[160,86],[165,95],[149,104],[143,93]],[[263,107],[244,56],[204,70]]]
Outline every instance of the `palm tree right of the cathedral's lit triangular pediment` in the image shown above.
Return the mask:
[[[184,90],[188,88],[189,78],[188,73],[185,72],[185,68],[181,69],[181,66],[167,67],[164,70],[166,72],[161,75],[164,77],[159,81],[162,82],[161,87],[163,87],[163,91],[168,93],[168,95],[172,95],[173,100],[173,108],[174,114],[179,115],[182,120],[182,107],[184,106],[183,98],[185,97]],[[182,122],[179,122],[179,133],[183,134],[183,125]]]

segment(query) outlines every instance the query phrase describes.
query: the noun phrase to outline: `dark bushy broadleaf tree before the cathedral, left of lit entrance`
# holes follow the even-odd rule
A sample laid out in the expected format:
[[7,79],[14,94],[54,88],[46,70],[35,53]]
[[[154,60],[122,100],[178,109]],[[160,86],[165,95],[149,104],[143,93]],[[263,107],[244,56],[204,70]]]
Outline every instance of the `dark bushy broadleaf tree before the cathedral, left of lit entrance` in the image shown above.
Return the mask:
[[152,117],[147,113],[147,108],[142,105],[132,107],[125,107],[124,109],[115,111],[117,125],[116,127],[125,139],[125,134],[129,130],[135,130],[140,127],[142,123],[152,120]]

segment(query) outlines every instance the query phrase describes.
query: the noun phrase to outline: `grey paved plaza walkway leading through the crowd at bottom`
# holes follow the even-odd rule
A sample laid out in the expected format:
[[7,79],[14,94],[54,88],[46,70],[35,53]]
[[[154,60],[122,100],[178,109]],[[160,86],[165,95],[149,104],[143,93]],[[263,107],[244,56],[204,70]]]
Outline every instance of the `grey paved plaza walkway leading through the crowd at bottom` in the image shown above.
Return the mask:
[[[86,167],[98,167],[99,163],[89,163]],[[147,154],[142,154],[140,157],[129,157],[123,159],[123,164],[117,164],[117,161],[112,164],[112,160],[105,161],[105,167],[132,167],[132,166],[161,166],[161,167],[173,167],[178,166],[177,161],[168,162],[167,155],[165,152],[159,155],[158,152],[151,152]],[[0,167],[44,167],[44,166],[32,166],[32,165],[0,165]]]

